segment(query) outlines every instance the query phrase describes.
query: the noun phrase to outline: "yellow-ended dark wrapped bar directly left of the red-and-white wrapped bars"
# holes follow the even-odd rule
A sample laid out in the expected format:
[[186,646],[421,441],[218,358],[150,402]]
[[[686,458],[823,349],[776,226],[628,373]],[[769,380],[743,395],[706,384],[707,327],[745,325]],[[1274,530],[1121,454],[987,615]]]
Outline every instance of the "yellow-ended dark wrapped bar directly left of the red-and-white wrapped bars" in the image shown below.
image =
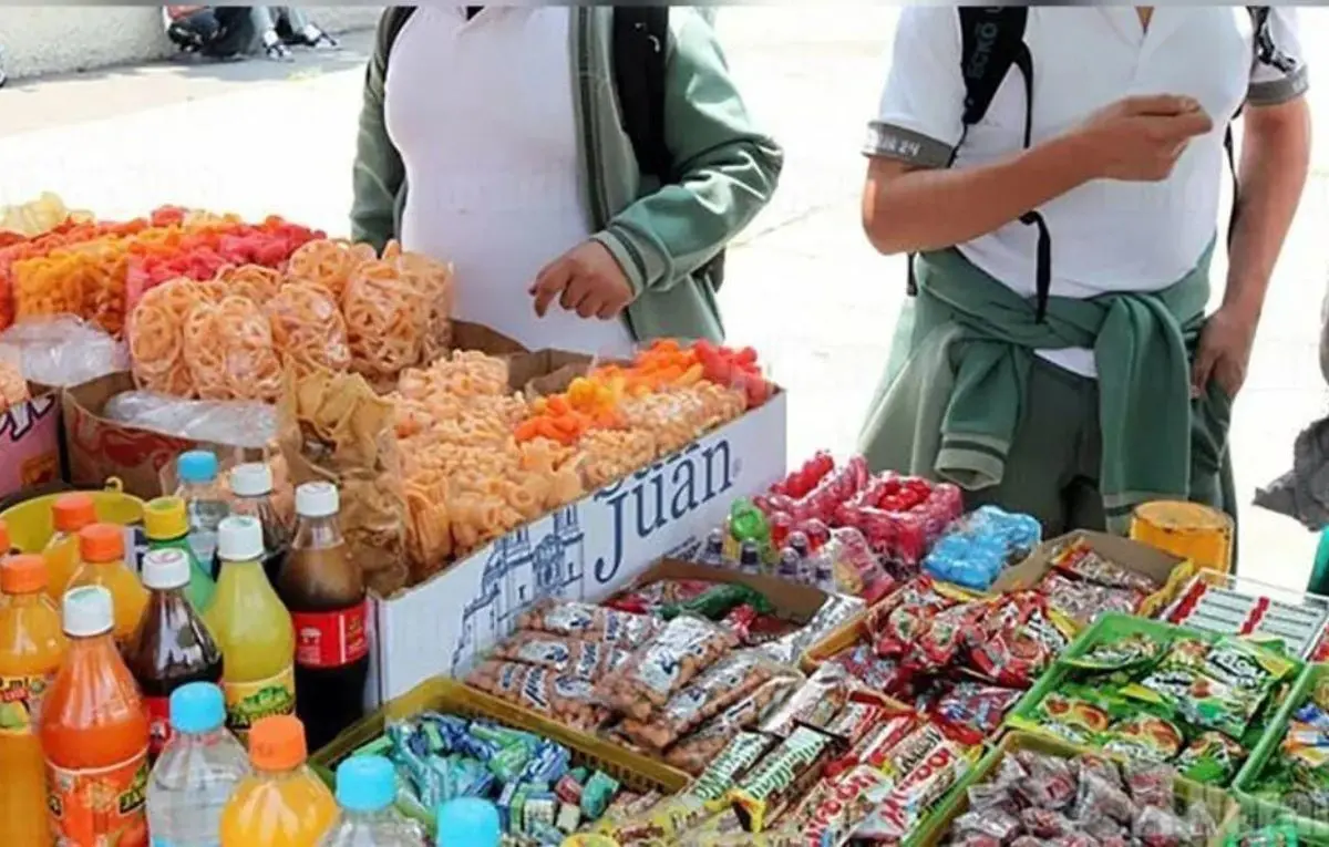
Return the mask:
[[767,753],[730,793],[734,807],[750,832],[762,832],[791,802],[821,775],[823,767],[843,751],[843,745],[808,726],[799,726]]

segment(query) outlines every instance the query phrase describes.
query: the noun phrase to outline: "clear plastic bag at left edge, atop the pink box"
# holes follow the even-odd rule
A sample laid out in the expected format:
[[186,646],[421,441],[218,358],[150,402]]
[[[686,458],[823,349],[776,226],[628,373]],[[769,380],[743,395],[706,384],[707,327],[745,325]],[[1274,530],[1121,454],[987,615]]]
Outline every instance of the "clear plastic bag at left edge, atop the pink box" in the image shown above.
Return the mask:
[[129,369],[129,350],[73,315],[29,317],[0,333],[0,357],[16,357],[31,382],[68,388]]

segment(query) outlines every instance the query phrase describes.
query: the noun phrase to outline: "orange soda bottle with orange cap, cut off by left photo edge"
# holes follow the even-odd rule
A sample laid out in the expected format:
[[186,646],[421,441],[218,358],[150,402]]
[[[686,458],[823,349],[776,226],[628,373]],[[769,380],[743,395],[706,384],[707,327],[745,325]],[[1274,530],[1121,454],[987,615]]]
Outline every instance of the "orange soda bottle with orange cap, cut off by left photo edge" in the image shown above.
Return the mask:
[[51,844],[37,721],[68,643],[45,587],[41,556],[0,563],[0,832],[17,847]]

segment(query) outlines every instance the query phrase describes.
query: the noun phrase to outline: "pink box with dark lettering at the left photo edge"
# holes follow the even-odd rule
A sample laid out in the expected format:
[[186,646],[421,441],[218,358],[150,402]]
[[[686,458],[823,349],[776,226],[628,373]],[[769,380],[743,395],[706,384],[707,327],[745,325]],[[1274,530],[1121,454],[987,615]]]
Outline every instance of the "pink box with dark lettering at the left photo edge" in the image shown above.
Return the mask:
[[60,482],[60,393],[28,384],[32,400],[0,412],[0,499]]

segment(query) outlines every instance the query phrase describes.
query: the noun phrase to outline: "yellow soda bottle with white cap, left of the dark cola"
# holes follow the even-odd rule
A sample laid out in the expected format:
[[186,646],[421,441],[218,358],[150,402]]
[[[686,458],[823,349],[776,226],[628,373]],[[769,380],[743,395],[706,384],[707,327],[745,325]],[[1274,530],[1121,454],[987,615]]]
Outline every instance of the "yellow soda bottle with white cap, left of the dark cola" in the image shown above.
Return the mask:
[[217,555],[222,574],[203,623],[222,651],[227,726],[243,741],[259,718],[295,712],[295,627],[263,572],[262,523],[223,519]]

